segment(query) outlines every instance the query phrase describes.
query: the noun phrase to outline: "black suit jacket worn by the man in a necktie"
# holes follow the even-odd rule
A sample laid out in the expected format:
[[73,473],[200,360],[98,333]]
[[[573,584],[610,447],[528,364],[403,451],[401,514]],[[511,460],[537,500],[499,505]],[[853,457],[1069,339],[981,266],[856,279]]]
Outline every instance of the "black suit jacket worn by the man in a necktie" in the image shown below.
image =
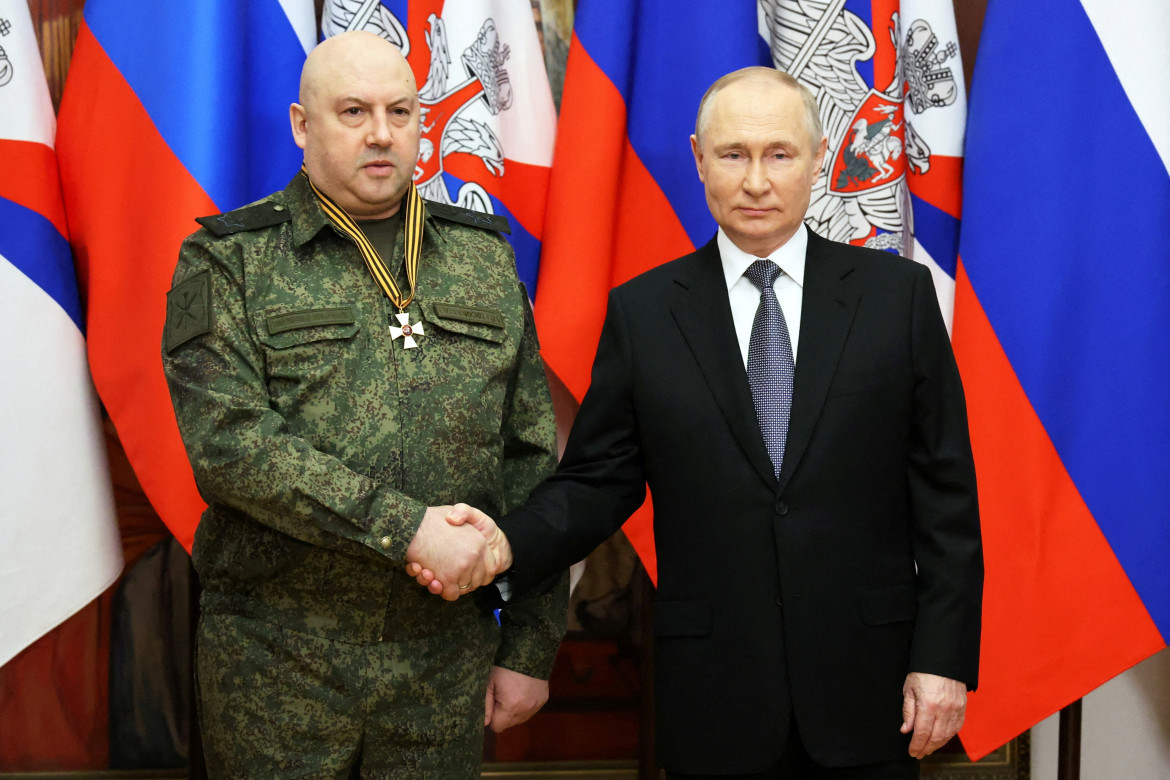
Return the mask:
[[654,498],[659,754],[676,772],[906,752],[902,683],[975,688],[983,558],[958,371],[930,274],[810,232],[780,477],[715,241],[614,289],[556,476],[501,520],[514,586]]

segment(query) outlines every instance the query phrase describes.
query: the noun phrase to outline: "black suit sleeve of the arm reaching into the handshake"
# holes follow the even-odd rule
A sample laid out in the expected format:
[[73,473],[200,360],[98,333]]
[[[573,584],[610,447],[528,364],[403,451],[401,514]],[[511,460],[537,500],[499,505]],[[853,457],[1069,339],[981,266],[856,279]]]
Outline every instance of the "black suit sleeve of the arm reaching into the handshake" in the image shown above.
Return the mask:
[[646,497],[632,358],[625,311],[614,290],[590,388],[560,467],[500,524],[511,544],[510,581],[517,593],[585,558]]

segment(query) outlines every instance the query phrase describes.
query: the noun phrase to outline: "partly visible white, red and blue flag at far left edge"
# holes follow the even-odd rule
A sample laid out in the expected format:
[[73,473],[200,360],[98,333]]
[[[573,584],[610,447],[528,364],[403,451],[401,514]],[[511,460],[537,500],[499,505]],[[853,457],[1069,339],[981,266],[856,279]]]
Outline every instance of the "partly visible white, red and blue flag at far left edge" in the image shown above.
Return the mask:
[[25,0],[0,0],[0,665],[122,571],[56,157]]

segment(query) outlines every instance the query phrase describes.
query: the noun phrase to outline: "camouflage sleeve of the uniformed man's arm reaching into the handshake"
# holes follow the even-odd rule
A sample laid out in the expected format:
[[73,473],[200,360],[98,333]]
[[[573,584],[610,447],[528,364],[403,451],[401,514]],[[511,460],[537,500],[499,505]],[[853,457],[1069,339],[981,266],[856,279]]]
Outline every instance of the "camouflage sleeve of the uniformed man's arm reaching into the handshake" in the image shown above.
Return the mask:
[[271,409],[263,354],[247,323],[239,248],[202,235],[184,242],[174,282],[207,275],[207,332],[171,348],[164,339],[163,350],[200,492],[301,541],[402,561],[426,505],[315,449]]

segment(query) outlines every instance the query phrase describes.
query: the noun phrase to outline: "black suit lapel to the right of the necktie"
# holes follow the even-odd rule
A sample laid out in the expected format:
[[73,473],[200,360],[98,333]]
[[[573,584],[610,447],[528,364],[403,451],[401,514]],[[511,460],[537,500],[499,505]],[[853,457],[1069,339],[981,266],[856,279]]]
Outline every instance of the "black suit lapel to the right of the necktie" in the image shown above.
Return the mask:
[[780,469],[782,491],[808,447],[853,324],[858,292],[849,284],[852,272],[853,263],[845,253],[835,249],[833,242],[808,232],[800,351],[797,356],[789,440]]

